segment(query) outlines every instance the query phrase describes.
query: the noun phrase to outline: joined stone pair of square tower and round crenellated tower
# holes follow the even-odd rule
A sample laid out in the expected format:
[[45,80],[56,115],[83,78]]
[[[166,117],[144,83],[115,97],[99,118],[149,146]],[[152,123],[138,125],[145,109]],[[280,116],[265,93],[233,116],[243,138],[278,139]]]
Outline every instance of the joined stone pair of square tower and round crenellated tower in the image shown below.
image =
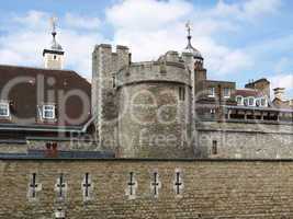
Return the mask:
[[101,148],[123,158],[193,157],[191,80],[182,57],[132,62],[129,50],[95,46],[92,112]]

